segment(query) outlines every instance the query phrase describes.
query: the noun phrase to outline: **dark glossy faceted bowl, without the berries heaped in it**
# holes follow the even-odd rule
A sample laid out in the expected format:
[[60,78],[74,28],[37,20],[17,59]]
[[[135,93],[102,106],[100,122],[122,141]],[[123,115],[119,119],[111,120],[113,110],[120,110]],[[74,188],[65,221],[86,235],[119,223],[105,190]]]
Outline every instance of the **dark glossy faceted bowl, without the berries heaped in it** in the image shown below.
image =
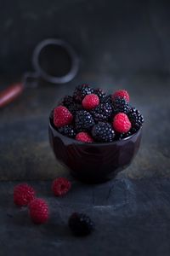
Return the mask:
[[113,143],[81,143],[65,137],[49,121],[49,142],[54,154],[73,177],[85,183],[102,183],[130,165],[137,154],[142,129],[130,137]]

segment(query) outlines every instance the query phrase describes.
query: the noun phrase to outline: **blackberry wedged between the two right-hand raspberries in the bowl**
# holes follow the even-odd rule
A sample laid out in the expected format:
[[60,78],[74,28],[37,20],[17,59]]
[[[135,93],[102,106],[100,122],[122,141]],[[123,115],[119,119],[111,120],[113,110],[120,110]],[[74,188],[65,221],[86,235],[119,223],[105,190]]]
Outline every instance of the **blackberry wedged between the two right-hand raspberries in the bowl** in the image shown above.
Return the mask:
[[121,97],[117,97],[113,103],[113,112],[116,113],[128,113],[130,111],[129,103]]

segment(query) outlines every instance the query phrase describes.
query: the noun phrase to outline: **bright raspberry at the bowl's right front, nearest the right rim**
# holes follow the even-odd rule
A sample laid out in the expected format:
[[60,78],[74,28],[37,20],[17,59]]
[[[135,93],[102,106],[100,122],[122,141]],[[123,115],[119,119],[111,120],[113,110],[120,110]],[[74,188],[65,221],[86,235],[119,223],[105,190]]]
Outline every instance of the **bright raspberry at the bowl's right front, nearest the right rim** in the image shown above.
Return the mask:
[[131,122],[126,113],[117,113],[113,119],[114,130],[120,133],[129,131],[131,126]]

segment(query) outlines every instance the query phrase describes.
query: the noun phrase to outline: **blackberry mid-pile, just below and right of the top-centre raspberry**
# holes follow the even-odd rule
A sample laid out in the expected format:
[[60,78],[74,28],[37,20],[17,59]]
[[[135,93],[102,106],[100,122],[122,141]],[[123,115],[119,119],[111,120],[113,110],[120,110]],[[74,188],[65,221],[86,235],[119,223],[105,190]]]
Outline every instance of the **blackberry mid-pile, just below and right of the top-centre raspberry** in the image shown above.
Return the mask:
[[90,112],[96,122],[105,122],[111,119],[113,110],[111,104],[101,103]]

